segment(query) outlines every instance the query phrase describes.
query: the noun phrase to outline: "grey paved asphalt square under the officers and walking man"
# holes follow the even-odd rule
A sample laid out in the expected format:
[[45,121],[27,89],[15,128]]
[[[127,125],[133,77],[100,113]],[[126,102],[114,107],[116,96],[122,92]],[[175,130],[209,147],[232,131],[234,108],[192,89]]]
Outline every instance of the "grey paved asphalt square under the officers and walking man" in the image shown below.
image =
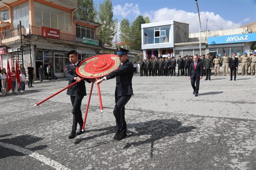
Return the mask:
[[[97,86],[86,133],[68,139],[72,105],[68,81],[34,83],[0,96],[0,169],[256,169],[256,77],[212,76],[192,94],[188,77],[133,78],[125,107],[128,136],[115,133],[115,80]],[[86,84],[90,92],[90,84]],[[82,103],[86,110],[88,96]]]

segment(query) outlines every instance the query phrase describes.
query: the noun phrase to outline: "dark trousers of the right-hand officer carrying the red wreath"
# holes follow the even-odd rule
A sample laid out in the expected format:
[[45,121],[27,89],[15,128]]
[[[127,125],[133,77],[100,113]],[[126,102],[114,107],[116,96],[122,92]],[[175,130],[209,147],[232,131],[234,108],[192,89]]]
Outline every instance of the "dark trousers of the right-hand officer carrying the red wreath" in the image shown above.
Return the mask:
[[115,108],[114,108],[114,116],[116,118],[116,131],[121,132],[122,134],[125,134],[127,131],[127,127],[126,127],[126,122],[125,122],[125,118],[124,118],[124,111],[125,108],[124,106],[126,105],[126,103],[131,99],[131,95],[122,95],[122,96],[117,96],[115,95]]

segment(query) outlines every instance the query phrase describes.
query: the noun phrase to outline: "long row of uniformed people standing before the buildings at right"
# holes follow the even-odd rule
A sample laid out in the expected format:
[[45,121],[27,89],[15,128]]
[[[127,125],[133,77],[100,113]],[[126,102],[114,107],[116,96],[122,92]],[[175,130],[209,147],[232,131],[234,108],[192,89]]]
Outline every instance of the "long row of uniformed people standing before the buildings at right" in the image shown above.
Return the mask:
[[[238,62],[241,63],[241,76],[256,75],[256,52],[253,52],[250,56],[244,52],[241,57],[238,56],[236,52],[233,52],[232,56],[236,57]],[[221,76],[220,65],[222,65],[223,68],[222,76],[230,76],[230,57],[227,53],[224,53],[224,56],[221,59],[218,54],[216,56],[210,56],[210,54],[207,54],[206,56],[201,55],[198,56],[198,58],[203,64],[203,72],[204,76],[206,76],[205,80],[211,80],[211,70],[214,70],[215,76]],[[179,56],[177,60],[175,57],[141,59],[138,62],[138,65],[140,76],[188,76],[189,65],[191,62],[193,62],[193,56]],[[238,76],[238,69],[236,70],[236,76]]]

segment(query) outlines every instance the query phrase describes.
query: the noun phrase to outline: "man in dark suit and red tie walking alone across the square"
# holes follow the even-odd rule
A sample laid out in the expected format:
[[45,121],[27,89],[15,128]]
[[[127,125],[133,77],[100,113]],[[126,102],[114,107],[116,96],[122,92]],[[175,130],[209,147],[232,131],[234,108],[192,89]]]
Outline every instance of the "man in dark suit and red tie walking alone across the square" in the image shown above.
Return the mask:
[[194,61],[191,62],[189,66],[188,79],[191,80],[191,85],[194,89],[193,94],[195,94],[195,96],[198,96],[200,79],[203,78],[204,74],[203,64],[201,61],[198,61],[198,56],[194,56],[193,60]]

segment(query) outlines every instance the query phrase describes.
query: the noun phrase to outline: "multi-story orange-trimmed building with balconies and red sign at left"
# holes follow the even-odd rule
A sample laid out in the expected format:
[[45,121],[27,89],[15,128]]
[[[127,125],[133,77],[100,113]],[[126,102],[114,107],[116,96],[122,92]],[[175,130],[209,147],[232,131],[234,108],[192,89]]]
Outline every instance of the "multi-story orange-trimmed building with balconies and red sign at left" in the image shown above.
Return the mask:
[[98,54],[115,53],[97,39],[96,22],[74,17],[77,0],[2,0],[0,1],[0,65],[17,58],[27,68],[31,62],[38,78],[38,68],[51,65],[55,76],[64,77],[70,63],[67,53],[78,52],[82,61]]

